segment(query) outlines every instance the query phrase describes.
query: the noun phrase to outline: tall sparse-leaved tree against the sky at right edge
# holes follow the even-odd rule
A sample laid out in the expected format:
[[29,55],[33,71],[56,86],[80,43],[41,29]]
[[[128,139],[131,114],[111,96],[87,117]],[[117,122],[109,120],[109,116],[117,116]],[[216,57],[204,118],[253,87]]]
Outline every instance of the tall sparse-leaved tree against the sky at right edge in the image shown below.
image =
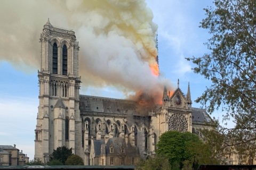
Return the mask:
[[197,65],[195,73],[212,82],[196,102],[209,105],[209,113],[221,109],[224,120],[234,119],[235,128],[218,128],[227,138],[223,140],[226,147],[253,148],[256,139],[256,1],[214,0],[214,5],[204,9],[206,18],[201,22],[201,27],[210,30],[212,35],[206,43],[209,54],[187,58]]

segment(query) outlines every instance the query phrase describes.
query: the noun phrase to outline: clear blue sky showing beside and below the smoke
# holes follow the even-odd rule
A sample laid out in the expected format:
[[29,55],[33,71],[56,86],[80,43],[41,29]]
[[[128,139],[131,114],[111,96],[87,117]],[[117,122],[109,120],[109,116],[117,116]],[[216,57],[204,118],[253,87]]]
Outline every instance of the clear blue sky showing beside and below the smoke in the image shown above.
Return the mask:
[[[4,2],[7,0],[4,0]],[[199,28],[199,22],[205,18],[203,8],[212,5],[211,0],[181,0],[181,1],[156,1],[147,0],[147,6],[151,8],[154,19],[158,25],[158,57],[159,70],[162,77],[170,80],[177,88],[177,80],[180,80],[180,88],[186,94],[188,82],[190,83],[191,97],[193,101],[202,94],[206,86],[210,85],[201,75],[191,71],[194,65],[185,60],[185,57],[202,56],[209,52],[203,43],[210,38],[208,30]],[[7,3],[5,10],[9,10]],[[3,6],[4,6],[3,5]],[[2,14],[2,15],[3,15]],[[26,20],[26,10],[22,16]],[[21,16],[21,18],[22,18]],[[11,16],[10,23],[0,18],[0,35],[3,32],[4,23],[13,24]],[[39,32],[49,16],[38,17],[41,23]],[[55,18],[54,18],[55,17]],[[58,19],[58,14],[52,16],[53,20]],[[57,19],[56,19],[57,18]],[[42,20],[41,20],[42,19]],[[22,27],[22,25],[20,25]],[[64,26],[63,26],[64,27]],[[29,31],[29,30],[28,30]],[[76,32],[76,30],[74,30]],[[25,33],[26,35],[26,33]],[[13,35],[15,36],[15,35]],[[39,39],[38,35],[33,35]],[[19,37],[17,37],[19,39]],[[0,40],[0,45],[6,43]],[[22,44],[19,44],[21,47]],[[12,47],[12,45],[10,45]],[[33,47],[31,45],[31,47]],[[35,46],[39,46],[35,44]],[[83,48],[81,46],[81,48]],[[13,53],[15,47],[10,49]],[[14,50],[15,51],[15,50]],[[39,57],[39,52],[38,52]],[[34,157],[34,129],[36,126],[36,115],[38,107],[38,78],[39,68],[23,66],[19,63],[20,58],[14,61],[0,55],[0,145],[17,145],[17,148],[28,154],[30,160]],[[33,62],[33,61],[31,61]],[[13,64],[15,63],[15,64]],[[83,76],[83,75],[81,75]],[[122,92],[114,87],[95,88],[81,87],[81,94],[103,97],[123,98]],[[193,107],[201,105],[193,102]],[[215,112],[215,117],[221,117],[221,113]]]

